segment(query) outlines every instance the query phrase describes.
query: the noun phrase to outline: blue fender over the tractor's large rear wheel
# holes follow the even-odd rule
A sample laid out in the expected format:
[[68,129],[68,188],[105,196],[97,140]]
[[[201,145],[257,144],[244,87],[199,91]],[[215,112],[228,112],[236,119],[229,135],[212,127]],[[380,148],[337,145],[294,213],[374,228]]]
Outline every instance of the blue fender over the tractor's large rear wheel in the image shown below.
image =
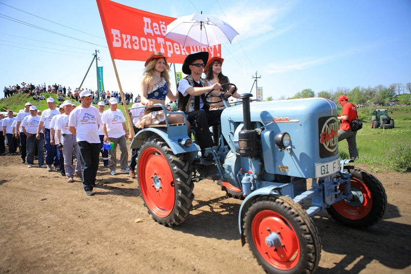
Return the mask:
[[145,129],[140,130],[134,136],[132,143],[130,144],[130,149],[140,148],[141,143],[144,142],[144,140],[151,137],[160,137],[161,139],[163,139],[167,143],[167,145],[169,145],[170,149],[173,151],[175,155],[181,153],[190,153],[192,154],[192,157],[189,157],[190,159],[194,159],[195,155],[197,155],[198,149],[194,145],[194,143],[192,143],[190,147],[182,147],[179,143],[179,140],[181,140],[182,138],[189,138],[188,136],[178,136],[169,138],[169,135],[166,131],[166,127],[147,127]]

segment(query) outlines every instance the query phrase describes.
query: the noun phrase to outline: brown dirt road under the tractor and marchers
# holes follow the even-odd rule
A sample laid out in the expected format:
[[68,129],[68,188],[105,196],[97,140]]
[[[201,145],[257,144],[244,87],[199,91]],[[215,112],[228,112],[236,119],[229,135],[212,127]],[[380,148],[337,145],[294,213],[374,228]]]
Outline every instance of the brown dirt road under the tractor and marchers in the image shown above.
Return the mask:
[[[28,169],[19,156],[0,160],[0,273],[264,273],[241,247],[241,201],[215,181],[197,182],[191,215],[167,228],[147,214],[128,174],[100,168],[96,195],[86,196],[80,178]],[[316,273],[411,273],[411,175],[375,175],[388,197],[377,225],[313,217],[323,246]]]

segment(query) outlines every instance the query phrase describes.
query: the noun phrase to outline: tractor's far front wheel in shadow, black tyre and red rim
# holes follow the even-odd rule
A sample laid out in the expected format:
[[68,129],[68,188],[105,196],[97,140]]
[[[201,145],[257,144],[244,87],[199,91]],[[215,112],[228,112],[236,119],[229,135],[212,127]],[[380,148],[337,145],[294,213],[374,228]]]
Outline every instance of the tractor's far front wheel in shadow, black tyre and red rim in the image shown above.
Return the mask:
[[[366,228],[378,223],[387,207],[387,195],[381,182],[365,170],[344,167],[351,173],[353,200],[340,200],[327,208],[331,217],[348,227]],[[343,190],[340,185],[340,190]]]

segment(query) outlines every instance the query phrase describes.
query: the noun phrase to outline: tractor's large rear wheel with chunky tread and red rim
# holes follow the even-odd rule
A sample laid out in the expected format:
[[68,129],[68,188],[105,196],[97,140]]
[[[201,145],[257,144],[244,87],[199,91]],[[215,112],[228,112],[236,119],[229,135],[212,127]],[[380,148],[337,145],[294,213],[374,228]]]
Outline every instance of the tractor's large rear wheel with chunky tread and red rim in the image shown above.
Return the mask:
[[138,184],[148,213],[164,226],[181,224],[193,205],[191,163],[186,155],[174,155],[161,138],[141,145],[137,157]]

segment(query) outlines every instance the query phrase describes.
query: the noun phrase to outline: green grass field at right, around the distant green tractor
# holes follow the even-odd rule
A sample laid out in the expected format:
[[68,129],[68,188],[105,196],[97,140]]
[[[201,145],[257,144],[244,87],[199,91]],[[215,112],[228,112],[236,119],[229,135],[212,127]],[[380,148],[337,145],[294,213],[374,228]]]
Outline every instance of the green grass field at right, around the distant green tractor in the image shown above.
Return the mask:
[[[407,163],[406,159],[409,157],[408,154],[411,154],[409,151],[409,144],[411,144],[411,107],[378,108],[388,109],[389,115],[395,121],[395,128],[371,129],[370,118],[374,108],[371,108],[371,111],[369,107],[360,108],[358,115],[363,121],[363,128],[357,133],[357,148],[360,158],[356,162],[370,165],[373,172],[410,172],[411,161]],[[406,148],[406,145],[408,145],[408,148]],[[339,149],[340,156],[348,158],[348,148],[345,140],[339,143]],[[400,157],[400,159],[396,157]]]

